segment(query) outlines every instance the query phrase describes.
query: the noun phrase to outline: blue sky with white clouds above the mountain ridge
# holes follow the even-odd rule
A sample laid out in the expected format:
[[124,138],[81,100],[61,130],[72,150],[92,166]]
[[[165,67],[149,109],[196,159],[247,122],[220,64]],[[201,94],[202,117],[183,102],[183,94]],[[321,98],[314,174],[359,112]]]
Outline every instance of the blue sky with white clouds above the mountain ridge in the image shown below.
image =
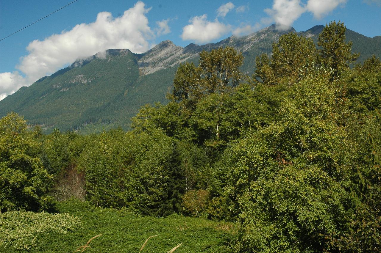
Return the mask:
[[[0,0],[0,40],[74,0]],[[0,100],[106,49],[144,53],[163,40],[218,42],[271,24],[304,31],[342,21],[381,35],[381,0],[77,0],[0,41]]]

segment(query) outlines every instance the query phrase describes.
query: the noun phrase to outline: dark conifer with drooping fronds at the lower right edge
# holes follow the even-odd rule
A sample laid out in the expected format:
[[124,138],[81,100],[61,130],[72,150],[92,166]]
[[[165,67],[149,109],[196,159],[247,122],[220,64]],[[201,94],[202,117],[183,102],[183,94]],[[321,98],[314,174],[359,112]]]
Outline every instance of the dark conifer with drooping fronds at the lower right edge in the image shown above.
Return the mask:
[[[364,132],[368,142],[365,157],[354,166],[349,187],[351,201],[344,217],[345,229],[341,240],[335,242],[341,251],[378,252],[381,249],[381,114],[368,121]],[[372,122],[373,121],[373,122]],[[364,138],[366,139],[366,138]],[[357,151],[357,153],[364,154]]]

